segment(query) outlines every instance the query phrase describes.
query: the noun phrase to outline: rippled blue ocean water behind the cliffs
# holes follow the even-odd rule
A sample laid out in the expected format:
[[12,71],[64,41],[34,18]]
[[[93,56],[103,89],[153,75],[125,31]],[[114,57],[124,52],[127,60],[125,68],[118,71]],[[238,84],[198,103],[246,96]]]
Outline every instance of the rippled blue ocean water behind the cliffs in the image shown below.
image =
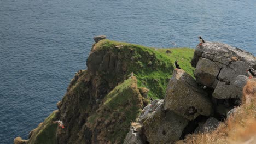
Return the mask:
[[201,35],[255,56],[255,14],[254,0],[0,0],[0,143],[27,139],[57,109],[95,35],[150,47]]

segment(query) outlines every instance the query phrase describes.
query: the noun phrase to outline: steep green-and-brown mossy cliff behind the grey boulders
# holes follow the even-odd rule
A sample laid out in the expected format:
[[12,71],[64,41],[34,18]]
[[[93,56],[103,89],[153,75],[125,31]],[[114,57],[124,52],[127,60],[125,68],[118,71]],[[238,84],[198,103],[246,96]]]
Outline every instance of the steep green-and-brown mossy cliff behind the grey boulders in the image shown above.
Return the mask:
[[[193,50],[180,51],[184,50],[191,57]],[[18,138],[15,143],[123,142],[149,97],[164,98],[176,58],[171,56],[140,45],[98,41],[86,62],[88,70],[75,74],[57,103],[58,110],[32,131],[28,141]],[[189,63],[186,57],[179,58]],[[55,120],[62,121],[65,128],[57,127]]]

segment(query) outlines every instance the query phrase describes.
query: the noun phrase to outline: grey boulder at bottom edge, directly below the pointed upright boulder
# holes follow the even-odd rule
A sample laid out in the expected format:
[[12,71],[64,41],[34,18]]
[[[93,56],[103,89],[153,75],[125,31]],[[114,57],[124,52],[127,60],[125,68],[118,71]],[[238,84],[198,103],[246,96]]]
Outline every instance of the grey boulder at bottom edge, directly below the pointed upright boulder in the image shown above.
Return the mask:
[[173,143],[179,140],[189,121],[172,111],[165,111],[162,107],[162,100],[155,101],[156,105],[158,106],[155,110],[153,106],[153,111],[143,117],[144,135],[147,141],[149,143]]

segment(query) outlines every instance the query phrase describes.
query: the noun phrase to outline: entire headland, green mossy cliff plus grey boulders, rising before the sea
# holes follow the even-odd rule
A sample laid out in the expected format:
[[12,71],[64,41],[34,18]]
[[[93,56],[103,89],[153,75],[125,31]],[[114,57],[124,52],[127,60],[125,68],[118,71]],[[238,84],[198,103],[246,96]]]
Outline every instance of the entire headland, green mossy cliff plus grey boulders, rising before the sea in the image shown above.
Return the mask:
[[256,67],[251,53],[222,43],[194,51],[105,38],[94,38],[88,70],[75,74],[58,110],[14,143],[174,143],[213,131],[241,105],[246,70]]

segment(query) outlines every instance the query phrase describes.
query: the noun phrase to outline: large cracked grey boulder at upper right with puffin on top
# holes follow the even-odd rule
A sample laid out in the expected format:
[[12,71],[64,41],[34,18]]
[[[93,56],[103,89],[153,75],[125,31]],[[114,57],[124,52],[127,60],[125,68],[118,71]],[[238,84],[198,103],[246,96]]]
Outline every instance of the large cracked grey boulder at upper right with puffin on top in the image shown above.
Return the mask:
[[241,98],[241,88],[235,85],[238,75],[255,68],[254,56],[227,44],[207,42],[197,45],[191,65],[196,67],[196,81],[214,89],[217,99]]

